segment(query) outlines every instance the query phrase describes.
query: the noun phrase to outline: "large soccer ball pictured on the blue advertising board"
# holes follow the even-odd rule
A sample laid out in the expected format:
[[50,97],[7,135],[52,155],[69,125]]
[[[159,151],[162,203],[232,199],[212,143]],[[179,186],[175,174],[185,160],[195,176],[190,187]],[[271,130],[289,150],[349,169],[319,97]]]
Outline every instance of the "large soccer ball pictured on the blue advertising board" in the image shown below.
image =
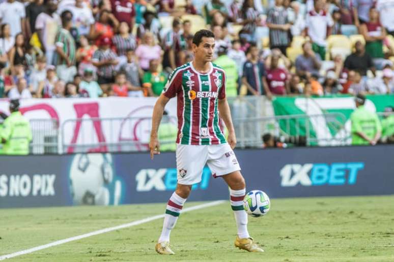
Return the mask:
[[74,205],[109,204],[107,185],[114,179],[110,154],[76,154],[69,177]]

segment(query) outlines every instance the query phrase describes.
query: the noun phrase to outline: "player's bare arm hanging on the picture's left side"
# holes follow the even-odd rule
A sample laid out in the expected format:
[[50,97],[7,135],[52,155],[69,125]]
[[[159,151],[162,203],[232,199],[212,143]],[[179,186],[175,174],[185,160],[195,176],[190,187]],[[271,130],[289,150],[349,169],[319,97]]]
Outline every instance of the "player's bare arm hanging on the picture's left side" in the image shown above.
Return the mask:
[[160,144],[157,138],[157,131],[159,129],[159,124],[163,116],[164,107],[170,101],[170,99],[161,94],[159,99],[156,101],[155,107],[153,108],[152,115],[152,130],[151,130],[151,141],[149,142],[149,149],[151,150],[151,158],[153,155],[160,154]]

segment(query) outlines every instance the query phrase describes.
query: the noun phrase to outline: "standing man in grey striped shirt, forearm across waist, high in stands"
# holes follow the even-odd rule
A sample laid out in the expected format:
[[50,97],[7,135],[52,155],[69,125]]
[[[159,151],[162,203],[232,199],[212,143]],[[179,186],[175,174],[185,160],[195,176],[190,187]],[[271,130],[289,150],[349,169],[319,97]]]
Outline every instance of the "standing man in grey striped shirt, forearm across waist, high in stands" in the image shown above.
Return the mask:
[[267,26],[269,28],[269,45],[271,49],[278,48],[286,55],[290,45],[289,23],[287,10],[283,7],[283,0],[275,0],[275,6],[268,11]]

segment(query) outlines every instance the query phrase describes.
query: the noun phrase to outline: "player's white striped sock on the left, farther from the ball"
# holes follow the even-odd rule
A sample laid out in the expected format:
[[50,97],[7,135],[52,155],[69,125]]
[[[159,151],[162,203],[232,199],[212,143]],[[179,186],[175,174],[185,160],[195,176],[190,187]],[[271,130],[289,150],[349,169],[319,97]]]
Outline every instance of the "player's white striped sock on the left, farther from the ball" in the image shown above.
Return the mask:
[[175,223],[178,220],[179,213],[182,210],[183,204],[185,204],[186,199],[181,198],[175,192],[171,195],[170,200],[168,200],[167,208],[164,215],[163,230],[159,238],[159,243],[163,241],[170,241],[171,230],[174,228]]

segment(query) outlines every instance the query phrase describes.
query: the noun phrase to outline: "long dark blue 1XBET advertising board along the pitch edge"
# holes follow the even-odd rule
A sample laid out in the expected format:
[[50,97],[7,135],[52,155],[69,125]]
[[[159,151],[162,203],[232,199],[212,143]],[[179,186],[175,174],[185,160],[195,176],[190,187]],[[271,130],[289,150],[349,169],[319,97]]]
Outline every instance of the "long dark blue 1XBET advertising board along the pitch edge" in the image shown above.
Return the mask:
[[[247,190],[271,198],[394,193],[394,146],[236,150]],[[0,208],[166,202],[174,153],[0,157]],[[190,172],[186,172],[186,175]],[[206,167],[190,201],[228,198]]]

